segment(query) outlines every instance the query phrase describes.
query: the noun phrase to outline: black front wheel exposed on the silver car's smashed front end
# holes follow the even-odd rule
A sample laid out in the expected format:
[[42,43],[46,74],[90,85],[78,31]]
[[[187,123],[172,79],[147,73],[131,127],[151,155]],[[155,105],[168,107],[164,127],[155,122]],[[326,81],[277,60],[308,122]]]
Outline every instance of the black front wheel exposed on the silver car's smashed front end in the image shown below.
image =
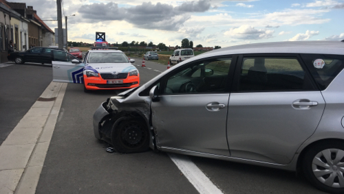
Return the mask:
[[147,125],[138,119],[125,119],[112,128],[111,142],[118,153],[147,151],[149,149]]

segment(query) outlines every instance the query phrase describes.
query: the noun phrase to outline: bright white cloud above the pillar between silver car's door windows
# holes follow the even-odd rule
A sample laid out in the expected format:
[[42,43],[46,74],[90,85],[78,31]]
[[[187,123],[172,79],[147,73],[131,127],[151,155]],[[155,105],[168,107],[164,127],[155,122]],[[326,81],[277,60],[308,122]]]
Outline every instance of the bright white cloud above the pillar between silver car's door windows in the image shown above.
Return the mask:
[[257,40],[272,38],[274,32],[275,30],[255,29],[255,27],[250,25],[241,25],[240,27],[229,29],[227,32],[224,32],[224,35],[241,40]]

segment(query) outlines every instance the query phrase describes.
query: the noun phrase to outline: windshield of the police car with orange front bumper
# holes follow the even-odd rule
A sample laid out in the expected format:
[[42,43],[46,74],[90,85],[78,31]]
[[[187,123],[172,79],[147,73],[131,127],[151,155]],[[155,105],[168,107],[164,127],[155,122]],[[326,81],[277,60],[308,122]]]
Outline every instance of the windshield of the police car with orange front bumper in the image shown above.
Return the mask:
[[124,53],[89,53],[89,63],[128,63],[129,60]]

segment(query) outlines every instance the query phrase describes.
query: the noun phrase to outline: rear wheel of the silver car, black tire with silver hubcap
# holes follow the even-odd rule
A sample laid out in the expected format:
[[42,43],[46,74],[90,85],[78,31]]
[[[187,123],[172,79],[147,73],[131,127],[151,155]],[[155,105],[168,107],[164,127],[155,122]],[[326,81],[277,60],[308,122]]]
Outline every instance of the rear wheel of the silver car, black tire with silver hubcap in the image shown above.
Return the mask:
[[[339,159],[336,158],[336,156],[338,156]],[[330,161],[327,161],[325,157]],[[338,182],[338,173],[343,175],[344,172],[336,163],[344,162],[344,143],[342,141],[327,141],[310,147],[310,149],[305,153],[302,162],[305,177],[316,188],[328,193],[344,193],[344,185],[339,185]],[[319,174],[317,178],[314,171],[316,171],[316,173],[321,173],[321,175]],[[330,175],[334,176],[333,180],[330,179]],[[326,180],[331,182],[331,186],[323,183]],[[336,186],[338,187],[336,188]]]

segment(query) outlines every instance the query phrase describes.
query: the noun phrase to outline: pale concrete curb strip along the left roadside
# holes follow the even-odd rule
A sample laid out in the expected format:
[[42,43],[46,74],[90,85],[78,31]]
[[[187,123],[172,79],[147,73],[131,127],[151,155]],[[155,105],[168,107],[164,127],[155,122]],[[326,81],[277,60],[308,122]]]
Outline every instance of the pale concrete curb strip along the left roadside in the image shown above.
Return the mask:
[[35,193],[67,84],[51,82],[0,146],[0,193]]

